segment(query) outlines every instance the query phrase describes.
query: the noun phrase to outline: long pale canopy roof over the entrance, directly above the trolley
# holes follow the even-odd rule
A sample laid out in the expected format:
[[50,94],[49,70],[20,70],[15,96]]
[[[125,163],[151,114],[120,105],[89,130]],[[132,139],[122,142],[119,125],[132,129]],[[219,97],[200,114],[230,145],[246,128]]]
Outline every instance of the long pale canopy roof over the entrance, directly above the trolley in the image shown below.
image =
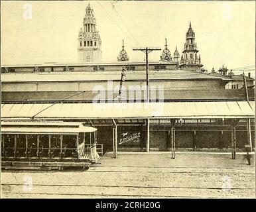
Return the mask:
[[254,101],[157,103],[2,104],[1,119],[245,119],[255,117]]

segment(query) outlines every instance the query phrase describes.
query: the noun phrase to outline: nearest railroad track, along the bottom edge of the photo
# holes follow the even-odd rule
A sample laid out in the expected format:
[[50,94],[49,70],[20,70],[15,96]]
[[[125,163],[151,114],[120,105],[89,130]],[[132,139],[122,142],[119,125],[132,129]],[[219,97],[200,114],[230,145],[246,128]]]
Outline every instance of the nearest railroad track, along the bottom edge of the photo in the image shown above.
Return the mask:
[[[22,191],[23,184],[3,184],[13,191],[3,191],[3,197],[254,197],[254,188],[232,187],[157,187],[129,185],[32,185],[32,191]],[[52,189],[58,187],[58,189]],[[67,192],[68,191],[68,192]],[[94,191],[94,192],[92,192]],[[241,193],[242,192],[242,193]]]

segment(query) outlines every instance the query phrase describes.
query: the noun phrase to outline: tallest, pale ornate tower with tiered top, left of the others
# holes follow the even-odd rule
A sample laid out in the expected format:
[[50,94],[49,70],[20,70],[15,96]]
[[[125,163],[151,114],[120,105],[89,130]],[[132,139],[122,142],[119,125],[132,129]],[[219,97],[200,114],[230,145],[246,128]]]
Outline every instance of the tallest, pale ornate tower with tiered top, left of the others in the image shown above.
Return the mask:
[[101,62],[101,39],[90,3],[86,7],[83,24],[84,28],[78,34],[78,62]]

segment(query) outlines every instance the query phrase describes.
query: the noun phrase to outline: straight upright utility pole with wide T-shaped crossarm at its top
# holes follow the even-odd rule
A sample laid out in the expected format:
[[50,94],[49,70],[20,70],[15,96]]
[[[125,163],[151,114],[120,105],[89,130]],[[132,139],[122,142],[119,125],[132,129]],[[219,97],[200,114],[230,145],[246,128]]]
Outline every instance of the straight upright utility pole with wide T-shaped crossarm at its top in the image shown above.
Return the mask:
[[[161,50],[160,48],[133,48],[133,51],[141,51],[146,54],[146,80],[147,80],[147,103],[149,103],[149,58],[148,54],[154,50]],[[146,151],[149,152],[149,119],[147,119],[147,142]]]

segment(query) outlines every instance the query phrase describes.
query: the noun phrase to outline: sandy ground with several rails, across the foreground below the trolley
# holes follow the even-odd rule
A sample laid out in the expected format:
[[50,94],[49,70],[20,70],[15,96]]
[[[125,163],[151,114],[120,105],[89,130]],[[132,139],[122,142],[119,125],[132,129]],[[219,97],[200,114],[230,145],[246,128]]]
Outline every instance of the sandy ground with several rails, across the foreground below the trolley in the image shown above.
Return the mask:
[[[31,175],[26,190],[23,176]],[[222,177],[231,187],[222,186]],[[41,179],[40,179],[41,178]],[[92,166],[86,172],[4,171],[2,197],[220,198],[255,197],[253,166]],[[25,189],[24,189],[25,188]]]

